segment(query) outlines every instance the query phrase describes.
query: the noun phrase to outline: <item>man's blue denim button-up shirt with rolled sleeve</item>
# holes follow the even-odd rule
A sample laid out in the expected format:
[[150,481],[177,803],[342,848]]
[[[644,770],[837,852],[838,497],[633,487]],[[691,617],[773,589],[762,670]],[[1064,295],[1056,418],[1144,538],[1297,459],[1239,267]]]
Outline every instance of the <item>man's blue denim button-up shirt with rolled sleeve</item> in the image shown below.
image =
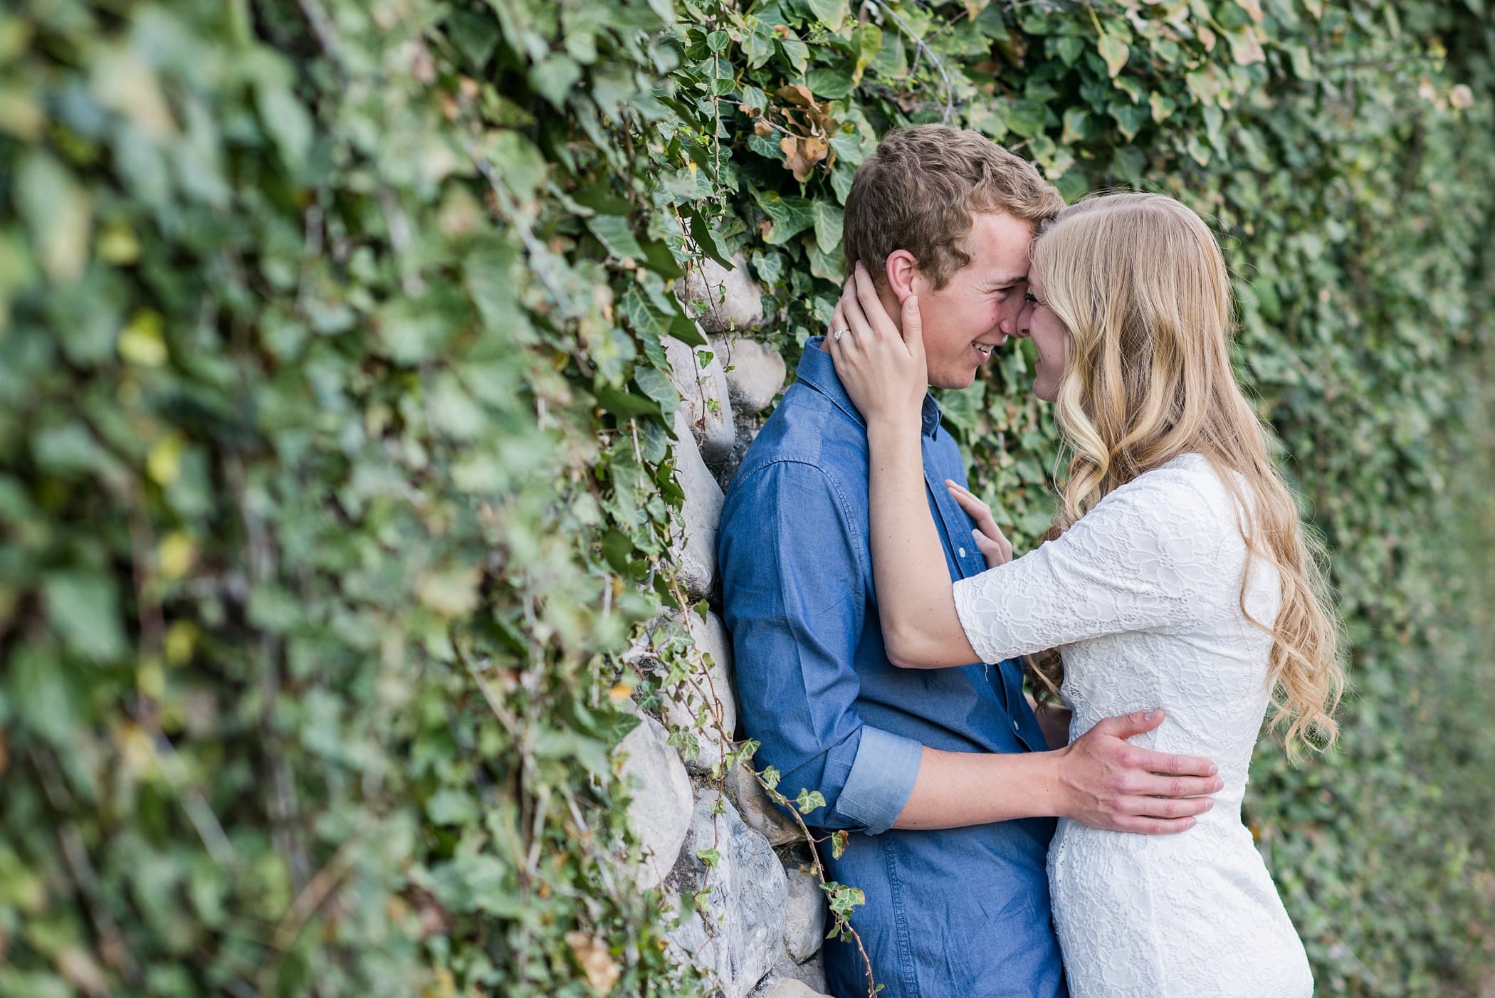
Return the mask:
[[[1049,923],[1045,858],[1052,819],[942,831],[890,829],[922,746],[948,751],[1045,747],[1017,662],[900,669],[878,622],[867,538],[866,424],[819,339],[727,492],[718,530],[724,619],[746,734],[762,743],[806,816],[849,829],[822,858],[867,902],[852,925],[887,998],[1049,998],[1064,994]],[[952,578],[987,568],[945,480],[966,483],[960,451],[924,400],[924,480]],[[825,943],[831,994],[867,994],[854,943]]]

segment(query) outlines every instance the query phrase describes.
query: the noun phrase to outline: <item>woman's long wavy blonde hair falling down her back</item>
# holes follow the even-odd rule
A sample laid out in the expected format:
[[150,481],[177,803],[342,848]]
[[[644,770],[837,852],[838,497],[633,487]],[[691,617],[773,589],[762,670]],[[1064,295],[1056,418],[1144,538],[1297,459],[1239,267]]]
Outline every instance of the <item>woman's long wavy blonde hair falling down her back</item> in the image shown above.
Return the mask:
[[[1033,267],[1045,305],[1070,335],[1055,405],[1072,456],[1049,538],[1112,489],[1180,454],[1202,454],[1235,499],[1247,545],[1241,611],[1274,638],[1272,728],[1287,722],[1289,747],[1328,747],[1344,692],[1338,622],[1320,553],[1230,369],[1230,275],[1209,229],[1162,194],[1094,197],[1044,227]],[[1245,611],[1254,557],[1281,578],[1271,626]],[[1058,656],[1033,665],[1057,692]]]

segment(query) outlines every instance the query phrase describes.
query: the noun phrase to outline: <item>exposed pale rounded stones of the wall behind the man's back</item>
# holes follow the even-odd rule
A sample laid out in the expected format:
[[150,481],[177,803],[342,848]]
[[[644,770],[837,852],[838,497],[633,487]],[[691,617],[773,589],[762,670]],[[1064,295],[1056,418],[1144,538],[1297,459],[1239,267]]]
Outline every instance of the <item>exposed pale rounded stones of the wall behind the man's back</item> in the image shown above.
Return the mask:
[[[722,490],[786,375],[783,359],[753,338],[762,303],[743,260],[734,263],[728,270],[706,261],[676,287],[709,345],[665,344],[680,390],[676,481],[685,492],[673,557],[689,599],[712,610],[704,620],[691,613],[659,622],[665,630],[685,627],[692,668],[667,686],[658,717],[646,714],[617,754],[634,780],[629,816],[644,852],[631,873],[683,911],[670,934],[676,958],[710,974],[724,998],[806,998],[825,991],[825,893],[810,846],[752,769],[724,766],[737,698],[719,617],[716,523]],[[662,668],[647,648],[637,663]]]

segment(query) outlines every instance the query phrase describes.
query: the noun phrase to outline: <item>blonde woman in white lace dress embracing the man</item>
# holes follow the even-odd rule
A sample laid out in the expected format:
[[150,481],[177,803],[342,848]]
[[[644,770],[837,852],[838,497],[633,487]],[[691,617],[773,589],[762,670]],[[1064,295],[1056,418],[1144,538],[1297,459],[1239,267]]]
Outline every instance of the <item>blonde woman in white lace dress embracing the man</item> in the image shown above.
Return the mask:
[[[994,566],[957,583],[919,463],[918,303],[904,302],[900,338],[855,279],[831,357],[867,423],[890,659],[942,668],[1058,648],[1072,737],[1160,707],[1166,720],[1138,743],[1211,757],[1224,778],[1180,835],[1060,820],[1048,875],[1070,991],[1307,998],[1308,961],[1241,798],[1268,707],[1289,743],[1332,741],[1343,675],[1296,505],[1230,371],[1230,281],[1209,230],[1156,194],[1081,202],[1045,226],[1023,333],[1069,472],[1044,545],[1008,560],[981,538]],[[990,523],[984,503],[957,499]]]

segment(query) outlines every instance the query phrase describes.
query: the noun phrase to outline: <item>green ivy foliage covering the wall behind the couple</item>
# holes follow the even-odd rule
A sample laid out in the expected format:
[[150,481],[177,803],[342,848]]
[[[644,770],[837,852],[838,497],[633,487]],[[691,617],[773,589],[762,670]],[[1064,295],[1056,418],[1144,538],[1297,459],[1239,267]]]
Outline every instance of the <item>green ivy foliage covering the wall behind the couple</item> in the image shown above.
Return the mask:
[[[1483,0],[9,4],[0,994],[700,991],[610,754],[703,666],[673,281],[745,260],[792,362],[922,121],[1215,223],[1356,684],[1248,816],[1323,994],[1471,994],[1492,54]],[[945,397],[1020,545],[1024,350]]]

